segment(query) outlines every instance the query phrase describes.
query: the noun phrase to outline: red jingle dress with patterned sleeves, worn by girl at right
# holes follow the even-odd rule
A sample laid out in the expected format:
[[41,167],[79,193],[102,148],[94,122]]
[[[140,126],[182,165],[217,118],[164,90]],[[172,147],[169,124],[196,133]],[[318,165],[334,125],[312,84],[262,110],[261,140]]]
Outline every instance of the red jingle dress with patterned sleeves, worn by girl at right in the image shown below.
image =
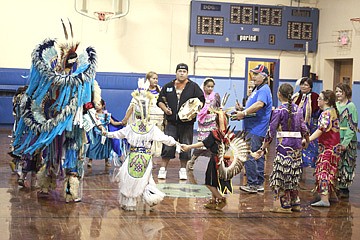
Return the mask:
[[319,118],[319,156],[315,168],[315,189],[327,195],[335,189],[340,160],[340,127],[335,108],[325,109]]

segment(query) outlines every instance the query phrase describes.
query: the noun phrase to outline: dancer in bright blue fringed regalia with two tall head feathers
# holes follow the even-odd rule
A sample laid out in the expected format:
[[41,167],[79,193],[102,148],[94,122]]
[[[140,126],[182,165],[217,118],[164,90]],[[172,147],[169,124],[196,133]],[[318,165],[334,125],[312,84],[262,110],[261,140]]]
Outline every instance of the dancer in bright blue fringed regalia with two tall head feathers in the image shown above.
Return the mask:
[[[30,156],[35,166],[40,192],[55,188],[55,179],[66,173],[64,194],[67,202],[81,200],[86,134],[83,105],[93,101],[96,52],[88,47],[78,54],[63,24],[65,43],[46,39],[32,53],[28,88],[21,103],[13,154]],[[96,120],[94,120],[96,121]],[[97,124],[95,124],[96,126]],[[41,155],[41,158],[31,156]],[[41,159],[39,163],[39,159]]]

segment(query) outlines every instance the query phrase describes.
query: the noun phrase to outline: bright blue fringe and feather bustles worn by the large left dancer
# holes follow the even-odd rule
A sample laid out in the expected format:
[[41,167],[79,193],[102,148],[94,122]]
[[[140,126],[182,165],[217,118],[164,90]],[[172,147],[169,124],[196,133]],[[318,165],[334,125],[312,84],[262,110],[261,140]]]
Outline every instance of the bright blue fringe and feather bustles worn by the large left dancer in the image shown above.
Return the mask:
[[61,141],[65,137],[64,166],[74,168],[83,145],[82,106],[91,101],[96,52],[88,47],[79,55],[70,74],[63,75],[55,71],[58,61],[55,44],[55,40],[46,39],[32,53],[28,89],[13,143],[14,154],[46,150],[45,161],[50,158],[59,161],[63,151]]

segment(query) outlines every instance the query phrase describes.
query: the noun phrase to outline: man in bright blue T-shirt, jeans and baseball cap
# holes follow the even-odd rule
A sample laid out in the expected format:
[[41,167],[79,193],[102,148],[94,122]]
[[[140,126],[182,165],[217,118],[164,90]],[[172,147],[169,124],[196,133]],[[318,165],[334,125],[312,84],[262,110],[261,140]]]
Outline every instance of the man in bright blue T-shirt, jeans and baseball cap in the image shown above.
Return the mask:
[[[255,87],[249,96],[245,109],[237,111],[238,120],[244,119],[244,130],[250,139],[252,152],[256,152],[262,146],[262,142],[269,127],[272,95],[268,83],[269,70],[262,64],[251,69],[252,80]],[[254,117],[246,117],[254,114]],[[240,186],[240,189],[248,193],[264,191],[264,156],[255,160],[249,155],[245,162],[247,185]]]

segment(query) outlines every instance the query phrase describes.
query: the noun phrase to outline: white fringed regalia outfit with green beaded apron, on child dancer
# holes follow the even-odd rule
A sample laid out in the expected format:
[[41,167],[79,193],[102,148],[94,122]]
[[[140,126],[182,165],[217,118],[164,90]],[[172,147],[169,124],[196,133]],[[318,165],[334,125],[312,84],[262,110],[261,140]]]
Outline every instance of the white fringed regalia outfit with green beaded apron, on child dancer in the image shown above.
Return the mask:
[[[136,210],[138,201],[145,201],[148,205],[155,205],[165,196],[156,188],[152,177],[151,144],[156,139],[165,145],[174,146],[174,138],[165,135],[153,124],[144,124],[141,120],[127,125],[115,132],[106,134],[109,138],[126,138],[130,144],[130,151],[119,171],[119,203],[125,210]],[[146,196],[152,194],[149,202]],[[142,198],[141,198],[142,197]]]

